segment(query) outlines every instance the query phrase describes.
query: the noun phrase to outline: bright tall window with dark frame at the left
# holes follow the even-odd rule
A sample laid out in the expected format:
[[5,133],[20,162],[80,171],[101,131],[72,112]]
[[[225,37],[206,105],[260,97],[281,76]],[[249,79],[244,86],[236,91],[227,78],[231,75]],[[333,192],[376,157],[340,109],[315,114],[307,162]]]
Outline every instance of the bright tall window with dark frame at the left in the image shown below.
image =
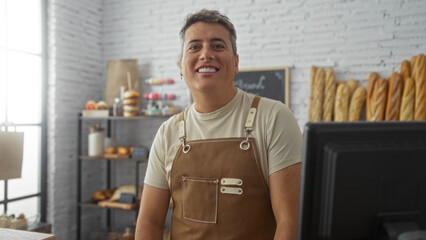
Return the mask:
[[[0,180],[0,215],[45,221],[46,0],[0,0],[0,123],[24,133],[22,177]],[[1,157],[1,156],[0,156]]]

